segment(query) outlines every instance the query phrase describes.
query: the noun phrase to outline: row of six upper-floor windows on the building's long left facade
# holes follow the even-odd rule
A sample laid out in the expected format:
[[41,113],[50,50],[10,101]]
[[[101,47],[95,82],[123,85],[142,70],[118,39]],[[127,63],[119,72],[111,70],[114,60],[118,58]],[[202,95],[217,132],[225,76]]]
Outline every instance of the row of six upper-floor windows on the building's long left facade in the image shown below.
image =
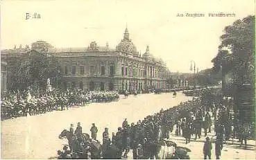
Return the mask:
[[[64,74],[68,74],[68,66],[64,67]],[[89,74],[92,75],[95,73],[95,67],[89,66]],[[71,74],[76,75],[76,66],[71,66]],[[80,66],[80,75],[85,74],[85,66]],[[101,66],[101,75],[105,75],[105,66]],[[114,66],[110,66],[110,75],[114,75]]]

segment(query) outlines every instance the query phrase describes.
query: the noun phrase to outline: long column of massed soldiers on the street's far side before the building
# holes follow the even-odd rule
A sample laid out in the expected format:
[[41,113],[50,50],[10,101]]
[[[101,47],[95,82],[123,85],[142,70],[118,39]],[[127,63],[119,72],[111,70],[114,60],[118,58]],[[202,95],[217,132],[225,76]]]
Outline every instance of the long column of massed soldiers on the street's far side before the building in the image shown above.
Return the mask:
[[119,100],[117,91],[53,90],[48,92],[9,91],[1,100],[1,118],[12,118]]

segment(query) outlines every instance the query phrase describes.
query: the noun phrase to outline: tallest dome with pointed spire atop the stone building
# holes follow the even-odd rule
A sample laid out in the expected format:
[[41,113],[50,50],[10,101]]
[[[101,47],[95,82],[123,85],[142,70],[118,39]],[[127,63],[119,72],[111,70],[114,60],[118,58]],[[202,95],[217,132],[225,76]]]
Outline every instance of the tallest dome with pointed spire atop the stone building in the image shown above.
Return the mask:
[[133,42],[130,39],[130,35],[128,32],[128,29],[123,33],[123,39],[121,39],[121,42],[117,45],[116,50],[121,53],[128,53],[131,55],[138,55],[137,48],[133,44]]

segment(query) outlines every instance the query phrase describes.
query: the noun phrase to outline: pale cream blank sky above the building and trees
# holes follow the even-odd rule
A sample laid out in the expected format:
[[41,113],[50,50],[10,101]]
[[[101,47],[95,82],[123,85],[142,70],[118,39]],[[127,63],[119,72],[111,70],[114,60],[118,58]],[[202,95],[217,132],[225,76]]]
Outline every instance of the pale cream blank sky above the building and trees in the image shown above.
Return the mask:
[[[101,0],[2,1],[1,49],[44,40],[56,47],[87,47],[96,41],[115,48],[128,24],[130,39],[144,53],[146,45],[173,72],[189,72],[190,61],[199,71],[212,67],[223,28],[255,13],[254,0]],[[25,19],[26,12],[40,19]],[[236,17],[208,17],[208,13]],[[205,17],[177,17],[199,13]]]

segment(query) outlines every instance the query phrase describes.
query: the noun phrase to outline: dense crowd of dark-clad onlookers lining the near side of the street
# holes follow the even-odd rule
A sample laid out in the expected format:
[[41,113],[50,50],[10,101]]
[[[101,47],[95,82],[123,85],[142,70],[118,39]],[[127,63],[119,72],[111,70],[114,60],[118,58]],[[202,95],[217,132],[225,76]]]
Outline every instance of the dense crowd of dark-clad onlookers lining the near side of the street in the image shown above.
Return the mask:
[[[212,111],[212,115],[210,114]],[[127,119],[123,121],[122,126],[117,129],[117,133],[112,133],[112,139],[108,133],[108,128],[103,132],[103,144],[101,157],[103,159],[121,159],[128,157],[128,152],[133,150],[133,159],[157,159],[159,152],[160,139],[169,139],[170,132],[176,125],[176,135],[182,135],[189,143],[191,136],[195,134],[195,140],[201,138],[203,129],[204,136],[212,132],[212,119],[215,121],[214,131],[216,132],[215,154],[216,159],[221,156],[223,141],[230,137],[230,118],[227,116],[225,107],[215,105],[215,107],[202,106],[201,98],[180,103],[180,105],[161,111],[153,116],[146,116],[143,121],[138,121],[136,124],[128,124]],[[228,120],[228,121],[227,121]],[[241,127],[241,141],[246,143],[246,131]],[[95,125],[91,128],[92,139],[96,139]],[[224,139],[225,138],[225,139]],[[110,150],[111,149],[111,150]],[[203,147],[204,158],[211,158],[212,143],[207,136]]]

